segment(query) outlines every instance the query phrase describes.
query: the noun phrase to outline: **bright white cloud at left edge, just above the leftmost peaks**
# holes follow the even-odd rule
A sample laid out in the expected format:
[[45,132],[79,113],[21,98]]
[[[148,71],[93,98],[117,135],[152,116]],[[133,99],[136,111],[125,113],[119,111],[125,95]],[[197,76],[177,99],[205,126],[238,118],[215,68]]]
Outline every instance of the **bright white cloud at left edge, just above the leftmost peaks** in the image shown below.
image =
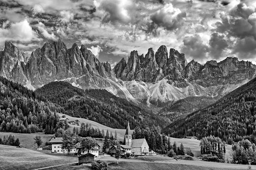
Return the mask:
[[27,20],[11,23],[9,28],[0,28],[0,45],[6,40],[31,42],[41,41],[38,34],[31,28]]

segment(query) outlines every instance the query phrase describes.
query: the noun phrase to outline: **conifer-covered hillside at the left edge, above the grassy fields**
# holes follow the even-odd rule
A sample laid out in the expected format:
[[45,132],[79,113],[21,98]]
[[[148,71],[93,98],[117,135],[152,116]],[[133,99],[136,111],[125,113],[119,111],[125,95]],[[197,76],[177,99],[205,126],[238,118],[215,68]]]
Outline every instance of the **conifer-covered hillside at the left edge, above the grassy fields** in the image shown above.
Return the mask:
[[0,77],[0,131],[35,133],[48,127],[54,133],[60,109],[35,97],[33,91]]

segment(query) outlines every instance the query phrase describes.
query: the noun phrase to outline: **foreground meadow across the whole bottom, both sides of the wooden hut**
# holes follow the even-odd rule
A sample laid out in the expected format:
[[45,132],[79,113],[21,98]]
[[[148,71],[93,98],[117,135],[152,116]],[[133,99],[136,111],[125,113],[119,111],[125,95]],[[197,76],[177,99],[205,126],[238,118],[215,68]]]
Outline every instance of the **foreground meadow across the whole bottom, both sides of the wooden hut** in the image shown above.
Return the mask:
[[[77,162],[77,157],[50,155],[37,150],[17,148],[0,145],[0,169],[1,170],[35,170],[43,167],[62,165]],[[153,156],[156,159],[158,156]],[[140,159],[119,159],[117,165],[114,157],[103,157],[100,160],[109,163],[111,170],[246,170],[248,165],[225,164],[205,161],[168,161],[168,157],[159,156],[157,162],[143,161]],[[159,160],[162,162],[159,162]],[[167,162],[168,161],[168,162]],[[251,166],[256,170],[256,166]],[[50,167],[45,170],[90,170],[87,166],[74,164]]]

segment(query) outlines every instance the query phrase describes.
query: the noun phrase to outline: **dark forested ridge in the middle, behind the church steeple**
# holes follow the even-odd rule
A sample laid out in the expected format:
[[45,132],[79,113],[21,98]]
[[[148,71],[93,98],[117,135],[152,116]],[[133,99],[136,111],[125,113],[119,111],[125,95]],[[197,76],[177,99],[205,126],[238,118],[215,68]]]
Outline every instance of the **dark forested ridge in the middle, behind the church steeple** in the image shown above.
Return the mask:
[[106,90],[84,91],[68,82],[51,82],[35,92],[38,99],[62,106],[62,113],[93,120],[112,128],[125,128],[127,121],[131,128],[153,125],[164,127],[169,123],[168,119],[156,116],[152,111],[142,109]]

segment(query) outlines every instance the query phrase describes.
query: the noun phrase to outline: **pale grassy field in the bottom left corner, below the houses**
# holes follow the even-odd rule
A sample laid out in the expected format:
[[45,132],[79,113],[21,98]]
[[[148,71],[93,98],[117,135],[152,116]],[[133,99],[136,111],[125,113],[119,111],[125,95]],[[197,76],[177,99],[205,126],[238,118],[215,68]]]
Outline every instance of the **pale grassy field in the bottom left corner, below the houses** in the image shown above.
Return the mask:
[[36,150],[0,144],[1,170],[31,170],[78,162],[77,157],[53,156]]

